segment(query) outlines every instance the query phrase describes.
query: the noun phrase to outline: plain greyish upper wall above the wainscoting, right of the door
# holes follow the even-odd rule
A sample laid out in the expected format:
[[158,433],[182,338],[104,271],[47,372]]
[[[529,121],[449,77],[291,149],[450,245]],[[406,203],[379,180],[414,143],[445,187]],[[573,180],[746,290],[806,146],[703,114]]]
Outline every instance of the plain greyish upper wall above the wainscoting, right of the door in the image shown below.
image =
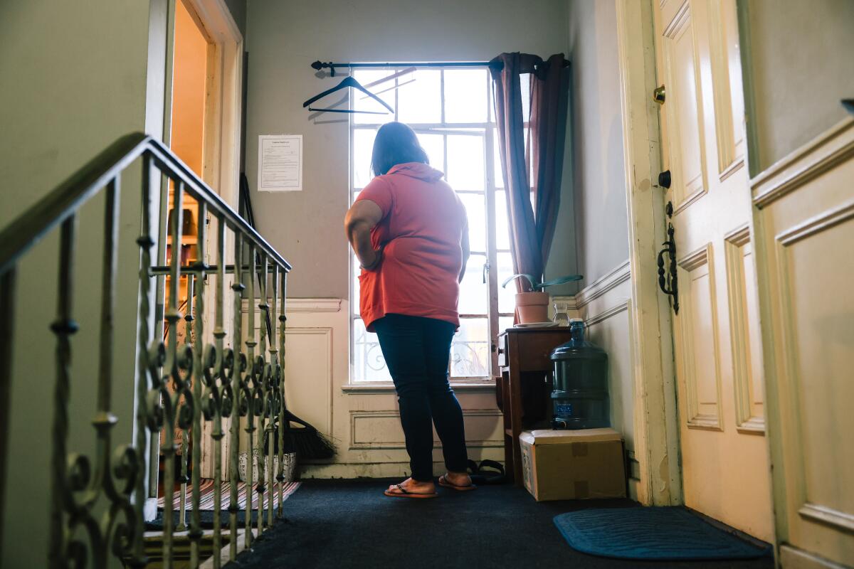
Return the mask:
[[750,42],[744,57],[756,175],[847,115],[839,100],[854,98],[854,3],[740,1],[739,11]]

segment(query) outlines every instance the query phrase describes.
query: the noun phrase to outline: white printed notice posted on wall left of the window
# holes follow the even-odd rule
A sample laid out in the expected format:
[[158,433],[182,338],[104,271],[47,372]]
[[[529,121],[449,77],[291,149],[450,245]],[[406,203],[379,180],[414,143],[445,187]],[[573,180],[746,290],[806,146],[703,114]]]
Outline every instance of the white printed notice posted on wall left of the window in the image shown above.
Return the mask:
[[258,191],[302,189],[302,135],[258,136]]

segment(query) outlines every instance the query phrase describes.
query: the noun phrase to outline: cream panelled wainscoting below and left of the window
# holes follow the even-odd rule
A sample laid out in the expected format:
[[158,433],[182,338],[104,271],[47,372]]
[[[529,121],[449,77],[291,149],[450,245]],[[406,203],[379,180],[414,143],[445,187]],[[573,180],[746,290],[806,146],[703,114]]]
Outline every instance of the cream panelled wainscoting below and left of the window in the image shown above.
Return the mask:
[[[407,476],[397,397],[391,386],[349,383],[349,305],[344,299],[288,299],[285,395],[288,408],[332,438],[330,461],[301,467],[302,478]],[[502,421],[491,386],[455,386],[472,460],[503,461]],[[435,471],[444,473],[436,437]]]

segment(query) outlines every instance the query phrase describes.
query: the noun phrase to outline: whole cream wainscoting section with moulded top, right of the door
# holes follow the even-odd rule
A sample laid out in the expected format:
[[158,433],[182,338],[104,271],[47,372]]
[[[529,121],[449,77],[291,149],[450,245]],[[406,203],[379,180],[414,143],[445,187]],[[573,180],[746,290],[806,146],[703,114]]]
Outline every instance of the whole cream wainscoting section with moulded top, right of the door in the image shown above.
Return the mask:
[[854,119],[755,179],[768,425],[784,567],[854,560]]

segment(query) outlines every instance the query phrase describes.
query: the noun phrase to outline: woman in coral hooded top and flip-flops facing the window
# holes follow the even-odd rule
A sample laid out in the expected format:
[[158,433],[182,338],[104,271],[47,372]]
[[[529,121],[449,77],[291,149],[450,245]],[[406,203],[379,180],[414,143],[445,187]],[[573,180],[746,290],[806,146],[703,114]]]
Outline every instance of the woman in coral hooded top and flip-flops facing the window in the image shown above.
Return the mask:
[[437,496],[433,425],[447,467],[439,485],[473,490],[465,472],[463,412],[447,377],[469,257],[465,207],[442,182],[442,172],[428,165],[407,125],[379,129],[371,169],[376,177],[347,212],[344,227],[362,268],[362,319],[377,333],[395,382],[412,467],[412,477],[385,494]]

